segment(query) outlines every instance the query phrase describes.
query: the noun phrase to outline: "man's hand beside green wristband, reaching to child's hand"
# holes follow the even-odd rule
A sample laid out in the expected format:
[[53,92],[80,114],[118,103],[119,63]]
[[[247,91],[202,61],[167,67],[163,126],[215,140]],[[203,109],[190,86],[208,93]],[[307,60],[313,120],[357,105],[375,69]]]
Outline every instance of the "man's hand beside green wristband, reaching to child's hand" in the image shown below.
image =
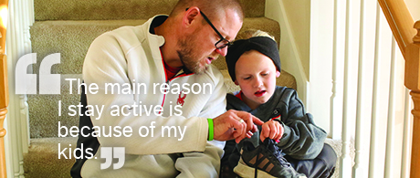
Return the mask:
[[263,123],[246,111],[227,110],[213,120],[214,138],[217,141],[235,139],[236,142],[239,142],[246,137],[251,138],[252,134],[257,131],[257,125]]

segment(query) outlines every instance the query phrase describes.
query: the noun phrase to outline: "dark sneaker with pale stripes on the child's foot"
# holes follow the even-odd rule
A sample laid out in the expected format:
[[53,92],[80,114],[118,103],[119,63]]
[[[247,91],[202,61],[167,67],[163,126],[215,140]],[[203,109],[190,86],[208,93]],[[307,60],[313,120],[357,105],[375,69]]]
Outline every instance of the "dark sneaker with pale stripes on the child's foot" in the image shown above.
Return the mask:
[[234,172],[244,178],[252,177],[252,174],[259,178],[306,178],[305,174],[296,172],[271,139],[266,139],[257,148],[251,141],[244,141]]

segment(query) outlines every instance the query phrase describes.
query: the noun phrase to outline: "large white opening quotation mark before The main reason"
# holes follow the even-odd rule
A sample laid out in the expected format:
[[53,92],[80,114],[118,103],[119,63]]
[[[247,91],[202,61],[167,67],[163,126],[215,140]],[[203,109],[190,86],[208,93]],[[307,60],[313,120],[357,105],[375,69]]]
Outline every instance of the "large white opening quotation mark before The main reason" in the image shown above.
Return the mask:
[[[51,74],[51,67],[60,63],[60,54],[44,58],[39,65],[39,94],[60,94],[60,75]],[[37,64],[37,53],[26,54],[16,63],[16,94],[37,94],[37,74],[27,74],[27,67]]]

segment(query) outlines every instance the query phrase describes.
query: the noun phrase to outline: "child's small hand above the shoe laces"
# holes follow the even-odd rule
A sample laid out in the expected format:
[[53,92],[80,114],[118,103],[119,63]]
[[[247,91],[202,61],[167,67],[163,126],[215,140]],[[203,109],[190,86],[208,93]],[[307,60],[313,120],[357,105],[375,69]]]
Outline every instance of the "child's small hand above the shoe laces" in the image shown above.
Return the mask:
[[266,138],[270,138],[278,142],[284,133],[283,126],[276,120],[269,120],[265,122],[261,128],[262,131],[259,135],[259,139],[261,139],[261,141],[266,140]]

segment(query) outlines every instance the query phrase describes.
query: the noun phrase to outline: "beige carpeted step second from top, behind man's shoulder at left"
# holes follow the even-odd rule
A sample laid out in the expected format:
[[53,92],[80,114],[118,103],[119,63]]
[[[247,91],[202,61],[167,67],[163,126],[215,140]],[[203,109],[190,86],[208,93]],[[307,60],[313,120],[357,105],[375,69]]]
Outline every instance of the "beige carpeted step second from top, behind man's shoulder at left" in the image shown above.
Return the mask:
[[[30,28],[32,51],[37,65],[47,55],[61,54],[61,65],[53,73],[81,74],[83,60],[92,41],[120,26],[139,26],[146,20],[42,21]],[[37,72],[38,66],[35,66]]]

